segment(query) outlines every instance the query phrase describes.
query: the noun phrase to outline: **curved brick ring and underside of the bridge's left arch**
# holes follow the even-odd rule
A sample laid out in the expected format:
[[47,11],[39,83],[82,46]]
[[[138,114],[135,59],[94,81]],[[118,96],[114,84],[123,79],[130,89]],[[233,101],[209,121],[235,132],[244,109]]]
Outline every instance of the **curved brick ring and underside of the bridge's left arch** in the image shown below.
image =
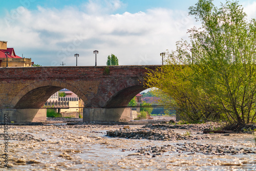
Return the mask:
[[52,94],[63,88],[74,92],[82,100],[85,98],[83,93],[72,86],[72,84],[62,81],[46,80],[38,81],[24,88],[15,96],[11,105],[14,108],[41,108]]

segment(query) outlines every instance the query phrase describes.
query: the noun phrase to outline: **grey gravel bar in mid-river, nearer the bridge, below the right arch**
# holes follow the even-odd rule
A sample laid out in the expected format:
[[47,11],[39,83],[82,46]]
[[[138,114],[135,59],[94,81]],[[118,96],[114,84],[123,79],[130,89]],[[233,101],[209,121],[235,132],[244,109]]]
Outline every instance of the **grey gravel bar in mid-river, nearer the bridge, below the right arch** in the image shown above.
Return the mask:
[[[115,131],[107,131],[109,137],[120,137],[129,139],[149,139],[149,140],[201,140],[211,139],[205,135],[192,136],[190,132],[185,134],[176,133],[167,124],[148,124],[141,128],[130,129],[129,126],[124,126],[123,129]],[[199,127],[198,127],[199,129]]]

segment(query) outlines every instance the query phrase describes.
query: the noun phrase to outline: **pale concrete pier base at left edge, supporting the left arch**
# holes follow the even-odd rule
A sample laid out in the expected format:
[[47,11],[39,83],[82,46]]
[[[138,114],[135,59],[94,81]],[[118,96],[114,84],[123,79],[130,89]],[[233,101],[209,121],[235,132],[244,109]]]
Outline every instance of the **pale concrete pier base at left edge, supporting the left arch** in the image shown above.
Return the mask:
[[46,121],[46,109],[0,109],[0,122],[42,122]]

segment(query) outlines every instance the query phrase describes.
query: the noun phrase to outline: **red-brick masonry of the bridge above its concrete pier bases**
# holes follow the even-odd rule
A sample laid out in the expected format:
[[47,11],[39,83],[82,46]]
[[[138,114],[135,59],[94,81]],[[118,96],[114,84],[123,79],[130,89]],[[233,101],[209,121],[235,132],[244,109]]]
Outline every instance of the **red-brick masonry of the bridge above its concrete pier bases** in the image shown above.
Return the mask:
[[143,91],[146,68],[160,66],[0,68],[0,108],[41,108],[67,88],[87,107],[123,106]]

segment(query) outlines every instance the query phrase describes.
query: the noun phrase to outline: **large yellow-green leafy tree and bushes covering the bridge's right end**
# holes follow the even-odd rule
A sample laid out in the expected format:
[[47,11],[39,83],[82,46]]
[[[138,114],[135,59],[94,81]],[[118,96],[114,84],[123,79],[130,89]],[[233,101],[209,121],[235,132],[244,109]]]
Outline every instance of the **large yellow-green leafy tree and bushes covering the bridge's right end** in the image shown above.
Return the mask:
[[[226,120],[245,124],[256,118],[256,22],[246,20],[238,2],[199,0],[189,8],[201,28],[190,43],[167,52],[168,65],[148,74],[146,86],[172,97],[183,120]],[[173,104],[173,103],[172,103]]]

